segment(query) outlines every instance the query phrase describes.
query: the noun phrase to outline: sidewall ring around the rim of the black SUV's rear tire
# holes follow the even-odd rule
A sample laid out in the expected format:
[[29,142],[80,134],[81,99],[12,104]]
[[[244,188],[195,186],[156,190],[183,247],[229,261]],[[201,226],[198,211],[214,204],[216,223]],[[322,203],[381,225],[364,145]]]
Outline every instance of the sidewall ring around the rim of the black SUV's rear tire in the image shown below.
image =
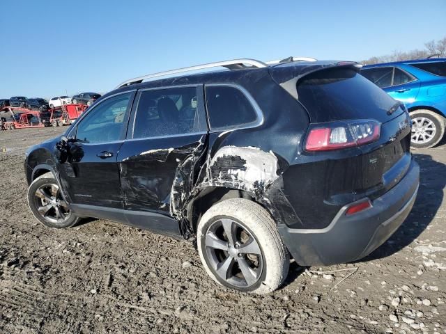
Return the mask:
[[[252,237],[254,237],[254,239],[256,239],[257,244],[259,244],[260,250],[261,250],[261,255],[262,255],[262,274],[259,278],[259,280],[257,280],[257,282],[254,285],[251,285],[249,287],[237,287],[235,285],[230,285],[229,283],[227,283],[225,280],[222,280],[222,278],[220,278],[220,276],[218,276],[218,274],[215,272],[215,269],[213,269],[212,265],[209,262],[208,259],[208,253],[206,252],[206,232],[208,232],[208,229],[210,228],[210,225],[212,225],[213,223],[215,223],[215,221],[219,221],[222,218],[228,218],[231,219],[232,221],[236,221],[238,224],[240,224],[241,226],[243,226],[243,228],[245,230],[247,230],[249,232],[249,234],[252,235]],[[256,289],[258,289],[260,287],[260,285],[263,283],[263,281],[266,278],[266,271],[267,271],[267,264],[266,264],[266,258],[263,252],[263,248],[261,243],[259,242],[259,238],[256,237],[256,234],[249,229],[242,221],[238,220],[237,218],[234,218],[232,216],[227,216],[227,215],[221,215],[221,216],[215,216],[212,219],[210,219],[209,221],[207,221],[202,227],[202,233],[201,233],[201,238],[200,240],[197,241],[197,243],[199,243],[199,247],[202,250],[203,253],[203,258],[206,261],[206,267],[208,267],[208,269],[210,271],[212,271],[213,276],[215,277],[216,280],[218,280],[218,282],[223,285],[224,287],[228,287],[229,289],[236,289],[240,292],[252,292]]]

